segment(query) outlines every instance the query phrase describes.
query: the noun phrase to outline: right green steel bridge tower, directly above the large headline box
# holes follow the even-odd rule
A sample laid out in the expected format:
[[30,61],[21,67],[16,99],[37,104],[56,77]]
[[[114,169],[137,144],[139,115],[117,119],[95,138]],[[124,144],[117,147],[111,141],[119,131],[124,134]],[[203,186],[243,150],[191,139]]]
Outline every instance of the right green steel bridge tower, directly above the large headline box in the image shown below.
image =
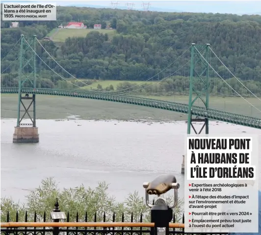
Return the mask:
[[[206,59],[203,59],[202,56]],[[195,134],[202,133],[205,127],[205,134],[209,134],[209,118],[193,118],[193,105],[195,101],[200,101],[196,106],[209,109],[209,44],[191,45],[190,59],[190,79],[189,79],[189,98],[188,98],[188,120],[187,134],[191,134],[191,127]],[[192,122],[204,122],[201,129],[197,132]],[[184,155],[182,163],[182,174],[184,174]]]

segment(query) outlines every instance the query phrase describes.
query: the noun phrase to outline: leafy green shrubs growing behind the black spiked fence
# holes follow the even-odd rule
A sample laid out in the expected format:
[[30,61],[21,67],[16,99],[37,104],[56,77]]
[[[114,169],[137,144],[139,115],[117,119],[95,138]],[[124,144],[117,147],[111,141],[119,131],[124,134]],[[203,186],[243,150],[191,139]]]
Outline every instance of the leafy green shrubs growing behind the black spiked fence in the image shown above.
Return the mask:
[[[103,221],[104,213],[106,221],[112,221],[113,212],[115,212],[116,222],[122,219],[124,212],[125,221],[130,221],[131,213],[133,222],[139,222],[140,215],[143,215],[144,222],[150,221],[150,208],[146,206],[143,197],[138,192],[130,193],[123,203],[115,201],[113,196],[107,193],[108,184],[100,182],[99,185],[92,189],[79,187],[59,190],[58,184],[53,178],[42,180],[41,185],[26,196],[26,203],[15,203],[11,198],[1,198],[1,222],[6,221],[7,211],[9,211],[9,220],[15,221],[16,212],[19,214],[19,221],[25,220],[27,211],[27,221],[33,221],[34,213],[37,214],[37,221],[43,221],[43,215],[52,211],[56,198],[58,199],[59,209],[69,212],[70,221],[75,221],[78,212],[78,221],[84,221],[87,212],[88,221],[93,221],[94,214],[97,214],[97,222]],[[168,197],[166,200],[173,205],[174,197]],[[176,222],[182,219],[183,200],[178,199],[178,206],[174,208]],[[46,216],[47,221],[51,221],[50,216]]]

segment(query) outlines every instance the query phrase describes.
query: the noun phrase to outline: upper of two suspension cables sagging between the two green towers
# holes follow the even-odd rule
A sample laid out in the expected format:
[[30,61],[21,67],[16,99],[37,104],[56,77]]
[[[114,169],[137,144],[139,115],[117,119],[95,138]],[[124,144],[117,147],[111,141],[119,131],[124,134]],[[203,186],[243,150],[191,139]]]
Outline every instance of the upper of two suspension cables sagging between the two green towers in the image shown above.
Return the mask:
[[[40,43],[40,41],[39,41],[37,38],[36,38],[36,40],[37,40],[38,43],[41,45],[41,47],[45,50],[45,52],[52,58],[52,60],[53,60],[59,67],[61,67],[65,72],[67,72],[70,76],[72,76],[74,79],[78,80],[79,82],[81,82],[81,83],[84,84],[85,86],[88,86],[88,87],[90,87],[90,88],[94,88],[94,87],[92,87],[92,86],[90,86],[90,85],[88,85],[88,84],[82,82],[81,80],[79,80],[78,78],[76,78],[76,77],[74,77],[72,74],[70,74],[67,70],[65,70],[65,69],[50,55],[50,53],[44,48],[44,46]],[[144,84],[144,83],[148,82],[149,80],[153,79],[153,78],[156,77],[158,74],[160,74],[161,72],[165,71],[165,70],[166,70],[169,66],[171,66],[173,63],[175,63],[178,59],[180,59],[190,48],[191,48],[191,46],[190,46],[189,48],[187,48],[187,50],[184,51],[181,56],[179,56],[177,59],[175,59],[172,63],[170,63],[166,68],[162,69],[162,70],[161,70],[160,72],[158,72],[156,75],[154,75],[153,77],[147,79],[146,81],[144,81],[144,82],[142,82],[142,83],[140,83],[140,84],[134,85],[134,86],[132,86],[132,87],[130,87],[130,88],[134,88],[134,87],[140,86],[141,84]],[[181,68],[180,68],[180,69],[181,69]],[[179,71],[180,69],[178,69],[177,71]],[[176,71],[176,72],[177,72],[177,71]],[[173,74],[173,73],[172,73],[172,74]],[[169,76],[171,76],[171,75],[169,75]],[[163,78],[162,80],[160,80],[160,82],[163,81],[163,80],[165,80],[165,79],[167,79],[169,76]],[[121,89],[121,90],[118,90],[118,91],[107,91],[107,90],[100,89],[100,88],[94,88],[94,89],[102,90],[102,91],[105,91],[105,92],[113,92],[113,93],[117,92],[117,93],[118,93],[118,92],[121,92],[121,91],[123,91],[123,90],[130,89],[130,88],[125,88],[125,89]],[[132,90],[132,91],[133,91],[133,90]],[[126,92],[130,92],[130,91],[126,91]]]

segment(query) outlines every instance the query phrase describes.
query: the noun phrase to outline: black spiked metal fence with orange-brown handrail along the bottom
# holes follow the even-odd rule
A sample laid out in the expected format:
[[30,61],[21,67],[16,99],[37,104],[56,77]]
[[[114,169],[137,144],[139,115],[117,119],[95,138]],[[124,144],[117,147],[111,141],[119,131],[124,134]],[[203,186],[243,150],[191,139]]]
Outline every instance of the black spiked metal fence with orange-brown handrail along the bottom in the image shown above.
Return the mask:
[[[55,208],[53,211],[60,211],[58,208],[58,203],[57,205],[55,204]],[[106,214],[103,213],[103,221],[99,220],[97,221],[97,213],[94,214],[94,219],[91,219],[92,221],[90,221],[90,219],[88,218],[87,212],[85,213],[84,219],[79,219],[79,214],[77,212],[76,214],[76,219],[72,219],[71,215],[69,214],[69,212],[67,213],[66,219],[65,220],[51,220],[51,215],[50,213],[48,213],[49,216],[47,215],[46,212],[44,212],[43,216],[42,215],[37,215],[36,212],[33,215],[33,221],[28,221],[28,216],[27,216],[27,211],[25,213],[25,219],[24,222],[27,223],[21,223],[21,218],[19,219],[19,213],[16,212],[16,218],[15,221],[10,221],[10,216],[9,216],[9,212],[7,212],[6,215],[6,222],[1,223],[1,235],[155,235],[155,228],[154,227],[148,227],[143,223],[144,221],[144,217],[142,214],[140,214],[140,218],[139,221],[134,221],[133,219],[133,213],[131,213],[130,215],[130,221],[126,221],[126,214],[122,213],[121,216],[121,221],[117,221],[117,222],[130,222],[131,224],[133,224],[133,226],[130,225],[130,223],[128,223],[128,226],[126,227],[121,227],[119,226],[119,224],[117,225],[118,227],[116,227],[116,225],[111,224],[108,222],[108,219],[111,218],[110,216],[106,217]],[[47,217],[48,216],[48,217]],[[31,217],[31,216],[30,216]],[[101,217],[100,215],[98,216],[99,218]],[[129,216],[128,216],[129,217]],[[81,217],[82,218],[82,217]],[[89,221],[88,221],[89,220]],[[50,224],[50,221],[52,222],[58,222],[61,225],[60,227],[54,227],[53,224]],[[66,227],[64,226],[64,224],[62,222],[75,222],[73,223],[75,227]],[[15,222],[15,223],[12,223]],[[18,223],[20,222],[20,223]],[[29,224],[28,222],[40,222],[40,224],[36,226],[36,224]],[[92,226],[97,226],[97,227],[90,227],[89,225],[82,225],[82,222],[94,222],[96,224],[92,224]],[[116,214],[113,213],[112,214],[112,220],[111,222],[116,222]],[[116,223],[117,223],[116,222]],[[139,223],[143,223],[143,224],[138,224],[138,226],[136,226],[135,224],[137,224],[137,222]],[[175,214],[173,214],[173,219],[171,221],[172,223],[176,223],[176,216]],[[106,223],[106,225],[105,225]],[[109,223],[109,224],[108,224]],[[46,226],[45,226],[46,225]],[[123,224],[121,224],[122,226],[124,226]],[[180,224],[176,224],[176,227],[183,227],[184,225],[184,214],[183,214],[183,219],[182,219],[182,223]],[[27,226],[27,227],[26,227]],[[98,227],[99,226],[99,227]],[[139,227],[141,226],[141,227]],[[143,227],[144,226],[144,227]],[[174,225],[173,225],[174,226]],[[173,227],[172,226],[172,227]],[[169,235],[182,235],[185,234],[184,233],[184,228],[169,228],[167,233]],[[187,233],[186,233],[187,234]],[[196,235],[198,233],[189,233],[190,235]],[[204,234],[209,234],[209,233],[204,233]],[[213,233],[212,233],[213,234]],[[216,234],[216,233],[215,233]],[[219,234],[221,235],[221,234]],[[224,235],[224,234],[222,234]]]

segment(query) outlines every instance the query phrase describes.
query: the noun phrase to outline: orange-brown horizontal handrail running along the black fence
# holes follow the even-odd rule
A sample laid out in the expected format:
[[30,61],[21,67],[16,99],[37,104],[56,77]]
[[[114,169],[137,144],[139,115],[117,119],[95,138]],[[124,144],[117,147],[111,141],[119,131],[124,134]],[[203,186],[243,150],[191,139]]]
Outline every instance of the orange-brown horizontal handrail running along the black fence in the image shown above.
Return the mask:
[[[18,228],[18,227],[143,227],[153,228],[154,223],[144,222],[8,222],[1,223],[1,228]],[[185,226],[181,223],[169,223],[169,228],[181,228]]]

